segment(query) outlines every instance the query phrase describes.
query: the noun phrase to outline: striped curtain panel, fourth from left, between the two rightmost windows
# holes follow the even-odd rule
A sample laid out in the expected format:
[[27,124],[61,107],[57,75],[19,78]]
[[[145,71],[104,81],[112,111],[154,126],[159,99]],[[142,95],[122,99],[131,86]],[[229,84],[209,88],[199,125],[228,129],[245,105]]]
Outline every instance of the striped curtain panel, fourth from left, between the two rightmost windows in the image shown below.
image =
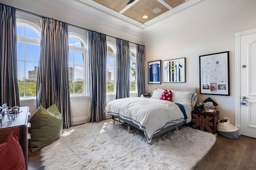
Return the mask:
[[116,99],[130,97],[130,45],[128,41],[118,38],[116,39],[116,65]]

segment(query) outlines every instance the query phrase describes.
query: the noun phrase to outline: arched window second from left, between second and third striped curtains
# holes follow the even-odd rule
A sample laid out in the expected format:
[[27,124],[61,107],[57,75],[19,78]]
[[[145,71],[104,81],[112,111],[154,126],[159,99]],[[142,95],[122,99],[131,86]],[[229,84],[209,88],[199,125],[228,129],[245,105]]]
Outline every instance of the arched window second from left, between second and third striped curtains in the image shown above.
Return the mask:
[[86,44],[80,35],[69,33],[68,79],[70,95],[86,94]]

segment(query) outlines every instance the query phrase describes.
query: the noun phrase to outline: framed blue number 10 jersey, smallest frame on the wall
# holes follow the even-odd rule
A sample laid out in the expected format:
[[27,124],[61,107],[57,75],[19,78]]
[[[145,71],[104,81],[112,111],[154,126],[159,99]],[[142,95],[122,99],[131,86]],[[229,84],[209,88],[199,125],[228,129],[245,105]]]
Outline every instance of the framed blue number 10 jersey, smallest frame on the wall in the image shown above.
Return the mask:
[[161,60],[148,62],[148,84],[161,84]]

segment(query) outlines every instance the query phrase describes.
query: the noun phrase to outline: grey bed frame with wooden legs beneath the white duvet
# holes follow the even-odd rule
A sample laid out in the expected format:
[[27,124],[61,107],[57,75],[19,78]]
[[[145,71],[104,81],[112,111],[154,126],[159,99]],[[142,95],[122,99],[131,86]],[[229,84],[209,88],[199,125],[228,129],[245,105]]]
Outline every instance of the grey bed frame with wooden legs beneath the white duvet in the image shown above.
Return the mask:
[[[141,130],[139,125],[136,125],[132,121],[128,121],[126,119],[123,119],[120,116],[114,116],[114,115],[112,115],[112,119],[113,119],[113,125],[115,125],[115,121],[118,121],[118,122],[122,123],[123,125],[126,125],[128,127],[128,133],[130,133],[130,130],[131,130],[131,127],[132,127],[132,128],[137,129],[137,130],[140,130],[144,134],[144,130]],[[184,125],[184,124],[186,124],[186,122],[182,121],[180,123],[177,123],[177,124],[174,124],[174,125],[170,125],[170,126],[168,126],[166,128],[163,128],[159,132],[155,133],[152,138],[155,138],[156,136],[159,136],[159,135],[161,135],[161,134],[163,134],[165,132],[168,132],[168,131],[170,131],[170,130],[172,130],[174,128],[175,128],[176,131],[178,131],[178,127],[180,127],[181,125]],[[150,145],[151,144],[152,144],[152,140],[150,142]]]

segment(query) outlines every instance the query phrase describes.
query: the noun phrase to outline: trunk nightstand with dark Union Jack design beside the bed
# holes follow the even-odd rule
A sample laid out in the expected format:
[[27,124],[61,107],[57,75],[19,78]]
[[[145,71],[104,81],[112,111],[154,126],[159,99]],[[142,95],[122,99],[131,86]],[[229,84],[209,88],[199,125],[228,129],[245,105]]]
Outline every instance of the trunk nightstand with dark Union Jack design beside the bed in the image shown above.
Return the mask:
[[192,111],[192,128],[215,134],[218,119],[219,111],[214,113]]

